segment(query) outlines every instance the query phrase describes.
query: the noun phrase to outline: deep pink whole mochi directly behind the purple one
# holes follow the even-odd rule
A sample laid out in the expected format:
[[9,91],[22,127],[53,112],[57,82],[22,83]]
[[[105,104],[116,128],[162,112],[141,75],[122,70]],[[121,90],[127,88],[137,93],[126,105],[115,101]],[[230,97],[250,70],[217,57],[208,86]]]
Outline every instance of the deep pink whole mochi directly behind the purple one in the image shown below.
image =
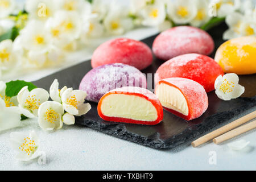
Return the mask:
[[110,63],[123,63],[139,70],[148,67],[153,61],[150,47],[143,42],[117,38],[101,44],[92,56],[92,67]]

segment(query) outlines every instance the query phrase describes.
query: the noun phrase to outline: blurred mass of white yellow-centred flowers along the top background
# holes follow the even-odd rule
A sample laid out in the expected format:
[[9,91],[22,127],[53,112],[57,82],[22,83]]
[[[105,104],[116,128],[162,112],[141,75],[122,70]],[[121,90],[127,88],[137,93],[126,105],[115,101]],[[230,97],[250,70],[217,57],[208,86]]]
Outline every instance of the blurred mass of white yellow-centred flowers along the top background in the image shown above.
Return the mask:
[[0,80],[57,67],[98,39],[141,27],[203,30],[226,22],[223,39],[256,35],[253,0],[0,0]]

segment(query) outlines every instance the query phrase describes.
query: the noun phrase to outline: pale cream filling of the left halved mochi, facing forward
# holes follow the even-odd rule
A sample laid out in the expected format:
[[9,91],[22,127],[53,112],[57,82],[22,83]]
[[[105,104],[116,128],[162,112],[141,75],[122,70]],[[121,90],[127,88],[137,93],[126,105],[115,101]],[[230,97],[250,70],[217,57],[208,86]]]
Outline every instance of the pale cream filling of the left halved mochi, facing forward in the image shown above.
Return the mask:
[[158,113],[146,98],[127,94],[109,94],[102,100],[102,114],[108,117],[155,121]]

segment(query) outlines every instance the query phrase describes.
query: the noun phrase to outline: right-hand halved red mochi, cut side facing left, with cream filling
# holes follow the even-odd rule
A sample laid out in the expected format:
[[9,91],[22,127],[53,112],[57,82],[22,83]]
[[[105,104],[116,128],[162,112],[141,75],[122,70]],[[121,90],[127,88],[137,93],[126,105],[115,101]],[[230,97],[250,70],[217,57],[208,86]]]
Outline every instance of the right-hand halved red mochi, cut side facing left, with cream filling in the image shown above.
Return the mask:
[[200,117],[208,108],[204,87],[187,78],[160,80],[155,94],[164,109],[187,121]]

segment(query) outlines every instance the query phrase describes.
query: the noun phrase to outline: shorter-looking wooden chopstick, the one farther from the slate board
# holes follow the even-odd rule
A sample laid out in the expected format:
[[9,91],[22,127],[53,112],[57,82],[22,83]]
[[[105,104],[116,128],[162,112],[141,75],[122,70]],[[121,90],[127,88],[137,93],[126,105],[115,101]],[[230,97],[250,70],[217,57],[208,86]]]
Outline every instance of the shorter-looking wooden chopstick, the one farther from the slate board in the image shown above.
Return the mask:
[[256,128],[256,120],[250,122],[250,123],[247,123],[246,125],[243,125],[243,126],[240,126],[234,130],[231,130],[223,135],[220,135],[219,137],[217,138],[214,138],[213,139],[213,142],[215,144],[219,144],[221,142],[224,142],[230,138],[233,138],[233,137],[236,137],[238,135],[241,135],[243,133],[245,133],[246,131],[250,131],[250,130],[253,130]]

